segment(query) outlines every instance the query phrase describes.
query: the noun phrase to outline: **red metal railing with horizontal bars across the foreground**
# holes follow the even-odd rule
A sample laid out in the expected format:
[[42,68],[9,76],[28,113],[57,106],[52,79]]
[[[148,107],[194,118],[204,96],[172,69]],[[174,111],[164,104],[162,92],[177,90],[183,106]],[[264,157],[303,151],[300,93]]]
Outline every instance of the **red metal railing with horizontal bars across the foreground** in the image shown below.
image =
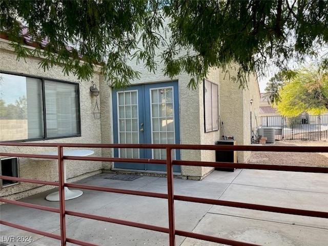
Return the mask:
[[[300,209],[290,209],[282,207],[272,207],[272,206],[263,206],[259,204],[252,203],[242,203],[242,202],[233,202],[225,200],[215,200],[215,199],[206,199],[199,197],[189,197],[174,195],[173,191],[173,168],[172,165],[181,165],[181,166],[202,166],[202,167],[220,167],[220,168],[239,168],[239,169],[259,169],[259,170],[279,170],[279,171],[294,171],[294,172],[313,172],[313,173],[328,173],[327,167],[297,167],[297,166],[277,166],[277,165],[255,165],[248,163],[231,163],[231,162],[204,162],[204,161],[187,161],[187,160],[173,160],[172,159],[172,150],[213,150],[213,151],[275,151],[275,152],[326,152],[328,153],[328,147],[278,147],[278,146],[224,146],[224,145],[117,145],[117,144],[39,144],[39,143],[16,143],[16,142],[0,142],[3,146],[37,146],[37,147],[57,147],[58,155],[35,155],[35,154],[22,154],[22,153],[4,153],[1,152],[1,156],[13,156],[13,157],[29,157],[29,158],[49,158],[58,160],[58,175],[59,181],[44,181],[44,180],[35,180],[27,178],[14,178],[9,176],[0,176],[1,179],[21,181],[21,182],[31,182],[38,183],[42,185],[51,185],[59,187],[59,209],[39,206],[36,204],[30,204],[26,202],[8,200],[5,198],[0,198],[1,202],[16,204],[19,206],[24,206],[28,208],[34,208],[49,212],[58,213],[60,216],[60,235],[35,230],[32,228],[27,228],[20,226],[19,224],[14,224],[8,221],[0,219],[1,224],[6,226],[25,230],[31,233],[40,234],[46,237],[55,238],[61,241],[61,245],[65,246],[67,242],[75,243],[78,245],[85,246],[96,246],[96,244],[80,241],[74,238],[66,237],[66,215],[78,216],[82,218],[89,218],[99,221],[106,221],[110,223],[122,224],[125,226],[136,227],[141,229],[147,229],[162,233],[169,234],[170,246],[175,245],[175,236],[184,236],[200,240],[207,240],[216,243],[228,244],[228,245],[242,245],[250,246],[257,245],[247,242],[240,242],[235,240],[230,240],[221,237],[214,237],[209,235],[197,234],[188,231],[181,231],[175,229],[174,222],[174,201],[189,201],[189,202],[199,202],[207,203],[213,205],[235,207],[235,208],[244,208],[260,211],[269,211],[276,213],[285,213],[285,214],[294,214],[294,215],[303,215],[303,216],[312,216],[312,217],[321,217],[328,218],[327,212],[318,212],[310,210],[300,210]],[[155,160],[155,159],[128,159],[128,158],[112,158],[112,157],[76,157],[76,156],[64,156],[63,148],[145,148],[145,149],[166,149],[167,158],[166,160]],[[168,193],[154,193],[154,192],[144,192],[144,191],[134,191],[134,190],[122,190],[114,189],[107,187],[99,186],[87,186],[87,185],[78,185],[76,183],[64,183],[64,159],[68,160],[87,160],[87,161],[115,161],[115,162],[147,162],[154,164],[166,164],[167,165],[167,183],[168,183]],[[86,214],[80,212],[69,211],[65,209],[65,194],[64,187],[94,190],[94,191],[104,191],[104,192],[114,192],[121,194],[130,194],[138,196],[148,196],[148,197],[157,197],[168,199],[168,218],[169,218],[169,228],[153,226],[150,224],[132,222],[127,220],[115,219],[105,216],[98,216],[93,214]]]

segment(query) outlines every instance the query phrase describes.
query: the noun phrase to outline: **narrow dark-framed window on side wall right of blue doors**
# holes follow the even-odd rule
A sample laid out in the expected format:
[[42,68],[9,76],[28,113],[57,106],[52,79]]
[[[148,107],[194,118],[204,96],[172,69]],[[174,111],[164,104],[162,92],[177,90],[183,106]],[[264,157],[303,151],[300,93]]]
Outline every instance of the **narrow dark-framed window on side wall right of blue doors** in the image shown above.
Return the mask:
[[219,130],[219,96],[218,85],[204,79],[204,125],[205,132]]

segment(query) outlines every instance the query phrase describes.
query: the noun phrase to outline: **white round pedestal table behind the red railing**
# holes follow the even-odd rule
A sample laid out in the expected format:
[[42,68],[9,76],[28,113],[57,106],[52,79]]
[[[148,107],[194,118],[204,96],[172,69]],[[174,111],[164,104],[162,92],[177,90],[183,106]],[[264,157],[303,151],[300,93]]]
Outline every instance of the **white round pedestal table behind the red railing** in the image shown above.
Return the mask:
[[[93,150],[64,150],[64,156],[88,156],[94,153]],[[58,155],[57,151],[49,151],[38,153],[38,155]],[[48,158],[30,158],[33,160],[50,160]],[[53,159],[51,159],[53,160]],[[64,160],[64,183],[66,183],[66,161]],[[70,200],[79,197],[83,194],[80,190],[70,190],[68,187],[64,187],[65,200]],[[46,199],[48,201],[59,201],[59,191],[49,194]]]

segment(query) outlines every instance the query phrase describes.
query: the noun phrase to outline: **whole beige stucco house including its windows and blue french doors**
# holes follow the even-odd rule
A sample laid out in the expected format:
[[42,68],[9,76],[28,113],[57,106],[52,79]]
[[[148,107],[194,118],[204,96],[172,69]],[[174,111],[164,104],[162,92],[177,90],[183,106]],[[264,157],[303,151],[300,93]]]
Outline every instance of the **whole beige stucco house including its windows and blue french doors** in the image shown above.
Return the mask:
[[[25,96],[27,102],[25,115],[0,120],[2,141],[213,145],[222,139],[220,117],[225,135],[234,136],[238,145],[251,143],[256,118],[250,115],[257,111],[260,98],[256,75],[249,76],[248,86],[242,90],[234,82],[237,69],[230,69],[229,76],[222,69],[212,69],[197,90],[189,90],[188,74],[180,74],[171,80],[163,75],[161,67],[153,74],[134,65],[141,72],[141,78],[131,81],[132,86],[126,89],[114,90],[98,72],[90,81],[80,81],[73,75],[64,75],[58,66],[44,71],[39,68],[39,58],[17,60],[8,40],[3,38],[0,39],[0,56],[1,90],[7,93],[1,95],[5,108],[8,109],[9,104],[14,104],[12,100],[19,97]],[[93,84],[100,90],[98,97],[90,93]],[[92,114],[96,102],[100,120]],[[0,148],[2,152],[34,154],[50,150],[40,147]],[[114,149],[113,153],[111,149],[93,150],[94,156],[166,158],[162,150]],[[238,152],[237,156],[238,162],[246,162],[250,152]],[[215,151],[176,151],[175,158],[215,161]],[[67,176],[71,182],[100,172],[161,173],[165,170],[164,166],[146,163],[68,161]],[[174,169],[177,176],[188,179],[201,179],[212,171],[210,167]],[[52,160],[19,158],[19,176],[57,180],[57,165]],[[50,188],[19,183],[1,188],[0,196],[19,199],[47,189]]]

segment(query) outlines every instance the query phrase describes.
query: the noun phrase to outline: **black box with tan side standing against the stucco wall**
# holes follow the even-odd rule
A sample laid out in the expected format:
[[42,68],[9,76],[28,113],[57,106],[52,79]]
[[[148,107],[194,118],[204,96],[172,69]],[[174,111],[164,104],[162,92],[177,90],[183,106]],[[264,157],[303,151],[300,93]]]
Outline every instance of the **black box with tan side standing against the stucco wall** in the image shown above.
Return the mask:
[[[237,145],[236,140],[220,140],[215,142],[216,145]],[[215,151],[215,161],[217,162],[235,162],[237,163],[237,151]],[[233,172],[233,168],[215,168],[219,171]]]

